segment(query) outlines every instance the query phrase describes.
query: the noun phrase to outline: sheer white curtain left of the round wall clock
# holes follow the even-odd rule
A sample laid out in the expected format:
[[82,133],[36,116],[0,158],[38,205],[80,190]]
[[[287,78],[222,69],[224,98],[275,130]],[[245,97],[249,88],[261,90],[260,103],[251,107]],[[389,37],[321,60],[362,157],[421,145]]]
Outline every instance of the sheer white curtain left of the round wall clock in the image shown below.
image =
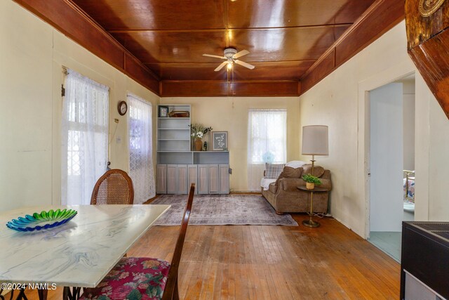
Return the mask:
[[62,107],[62,204],[90,204],[107,168],[109,88],[68,70]]

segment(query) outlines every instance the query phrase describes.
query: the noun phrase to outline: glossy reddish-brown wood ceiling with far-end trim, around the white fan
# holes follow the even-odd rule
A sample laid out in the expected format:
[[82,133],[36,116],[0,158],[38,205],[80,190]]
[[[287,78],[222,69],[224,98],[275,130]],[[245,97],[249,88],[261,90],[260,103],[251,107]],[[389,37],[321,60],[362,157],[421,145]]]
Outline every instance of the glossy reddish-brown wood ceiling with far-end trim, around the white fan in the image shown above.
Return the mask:
[[[239,82],[253,83],[240,91],[251,96],[267,81],[294,83],[298,93],[304,72],[374,1],[72,0],[156,74],[161,96],[195,94],[189,86],[223,96],[228,92],[220,89]],[[214,72],[222,60],[202,54],[222,56],[229,46],[250,51],[241,60],[255,69]]]

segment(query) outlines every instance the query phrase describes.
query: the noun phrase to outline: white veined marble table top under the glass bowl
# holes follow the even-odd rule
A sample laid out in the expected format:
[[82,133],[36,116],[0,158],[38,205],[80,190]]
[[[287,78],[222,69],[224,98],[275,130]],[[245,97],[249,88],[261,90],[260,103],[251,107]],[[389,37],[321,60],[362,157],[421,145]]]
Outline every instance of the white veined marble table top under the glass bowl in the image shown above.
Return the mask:
[[[24,233],[5,225],[18,216],[58,208],[76,209],[78,214],[62,226],[41,231]],[[0,282],[95,287],[169,208],[170,205],[69,205],[2,212]]]

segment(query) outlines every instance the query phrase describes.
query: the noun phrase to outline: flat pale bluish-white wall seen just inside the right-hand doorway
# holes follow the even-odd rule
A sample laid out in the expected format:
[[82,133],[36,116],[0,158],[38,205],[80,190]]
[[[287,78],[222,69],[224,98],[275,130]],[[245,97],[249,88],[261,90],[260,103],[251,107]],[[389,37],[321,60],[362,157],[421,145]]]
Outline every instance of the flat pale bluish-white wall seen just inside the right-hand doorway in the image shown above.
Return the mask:
[[[370,91],[370,231],[401,231],[403,84]],[[368,122],[367,122],[368,124]]]

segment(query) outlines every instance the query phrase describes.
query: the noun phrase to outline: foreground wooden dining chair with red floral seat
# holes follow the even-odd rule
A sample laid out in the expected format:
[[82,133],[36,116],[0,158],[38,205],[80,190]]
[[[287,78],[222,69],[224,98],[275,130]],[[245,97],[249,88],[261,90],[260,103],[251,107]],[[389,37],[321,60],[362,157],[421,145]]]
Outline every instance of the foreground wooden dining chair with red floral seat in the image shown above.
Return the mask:
[[112,300],[140,299],[142,294],[154,299],[179,299],[177,275],[194,192],[195,184],[192,183],[171,264],[161,259],[123,257],[97,287],[84,289],[79,299],[99,299],[100,296],[107,296]]

